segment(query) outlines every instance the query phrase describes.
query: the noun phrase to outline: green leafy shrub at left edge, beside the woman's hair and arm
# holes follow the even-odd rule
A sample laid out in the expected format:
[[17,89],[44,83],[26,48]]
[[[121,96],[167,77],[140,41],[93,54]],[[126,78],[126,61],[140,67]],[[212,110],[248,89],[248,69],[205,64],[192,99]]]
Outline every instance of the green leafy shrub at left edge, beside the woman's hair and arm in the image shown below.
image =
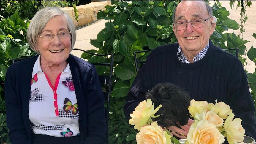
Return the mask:
[[10,143],[6,125],[6,109],[4,95],[4,80],[7,68],[12,59],[29,57],[33,54],[26,42],[26,32],[29,21],[26,23],[15,12],[10,18],[0,22],[0,135],[1,141]]

